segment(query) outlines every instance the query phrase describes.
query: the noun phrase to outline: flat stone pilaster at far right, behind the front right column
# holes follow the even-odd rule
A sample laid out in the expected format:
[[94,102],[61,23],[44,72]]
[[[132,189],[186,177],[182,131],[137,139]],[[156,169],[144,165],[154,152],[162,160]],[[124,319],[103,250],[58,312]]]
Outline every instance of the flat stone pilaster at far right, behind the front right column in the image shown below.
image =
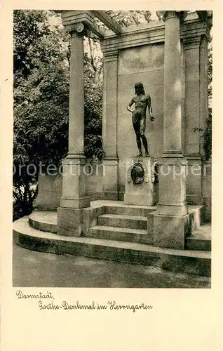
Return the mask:
[[[184,39],[185,60],[185,145],[187,157],[187,201],[203,204],[200,121],[200,45],[201,36]],[[196,131],[193,129],[197,128]]]

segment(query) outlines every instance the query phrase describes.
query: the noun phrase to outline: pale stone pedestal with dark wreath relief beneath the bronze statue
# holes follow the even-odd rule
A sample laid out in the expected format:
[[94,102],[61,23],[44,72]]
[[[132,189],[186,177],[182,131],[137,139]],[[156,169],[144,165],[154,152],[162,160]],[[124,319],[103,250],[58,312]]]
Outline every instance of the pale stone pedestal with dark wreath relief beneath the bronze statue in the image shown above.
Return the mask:
[[[128,205],[154,206],[154,159],[152,157],[135,157],[126,170],[126,192],[124,202]],[[134,184],[131,173],[135,165],[141,165],[144,170],[144,180]],[[140,178],[140,177],[138,177]]]

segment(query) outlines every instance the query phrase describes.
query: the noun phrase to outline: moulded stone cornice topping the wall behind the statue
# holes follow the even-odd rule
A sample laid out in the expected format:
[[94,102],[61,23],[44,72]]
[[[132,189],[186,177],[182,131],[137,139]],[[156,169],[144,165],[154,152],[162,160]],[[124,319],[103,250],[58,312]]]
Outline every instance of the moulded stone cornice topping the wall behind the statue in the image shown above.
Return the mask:
[[[136,28],[137,27],[137,28]],[[206,22],[201,22],[198,18],[186,20],[180,28],[180,38],[190,40],[190,38],[201,38],[205,35],[210,40],[210,29]],[[103,53],[109,51],[121,50],[122,48],[130,48],[134,46],[142,46],[148,44],[156,44],[165,40],[165,23],[154,22],[152,25],[137,25],[135,29],[128,30],[121,34],[121,37],[109,35],[101,41],[101,49]],[[193,39],[194,40],[194,39]]]

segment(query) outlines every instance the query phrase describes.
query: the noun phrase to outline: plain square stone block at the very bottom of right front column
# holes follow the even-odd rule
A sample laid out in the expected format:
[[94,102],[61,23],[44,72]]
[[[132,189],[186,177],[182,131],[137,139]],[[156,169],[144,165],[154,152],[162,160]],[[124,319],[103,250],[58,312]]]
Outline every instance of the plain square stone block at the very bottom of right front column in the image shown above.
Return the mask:
[[185,249],[189,234],[189,216],[154,215],[154,246],[166,249]]

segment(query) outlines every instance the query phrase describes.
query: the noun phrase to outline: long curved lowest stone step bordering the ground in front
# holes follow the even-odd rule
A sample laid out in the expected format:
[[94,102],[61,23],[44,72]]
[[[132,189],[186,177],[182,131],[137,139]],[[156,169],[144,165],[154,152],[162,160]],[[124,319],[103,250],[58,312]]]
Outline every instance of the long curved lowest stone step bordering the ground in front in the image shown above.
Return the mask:
[[153,265],[164,270],[207,277],[211,272],[211,255],[207,251],[161,249],[126,241],[65,237],[30,227],[28,216],[13,223],[13,236],[18,246],[34,251]]

